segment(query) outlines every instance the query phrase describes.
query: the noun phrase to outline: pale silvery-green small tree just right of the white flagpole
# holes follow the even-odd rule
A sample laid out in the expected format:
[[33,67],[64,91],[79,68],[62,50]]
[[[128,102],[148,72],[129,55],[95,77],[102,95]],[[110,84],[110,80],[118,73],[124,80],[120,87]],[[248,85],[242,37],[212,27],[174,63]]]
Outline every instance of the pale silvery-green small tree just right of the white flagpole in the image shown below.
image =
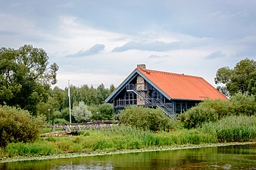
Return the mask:
[[88,107],[83,101],[80,101],[78,106],[73,107],[72,113],[76,122],[87,121],[92,117],[91,111],[88,110]]

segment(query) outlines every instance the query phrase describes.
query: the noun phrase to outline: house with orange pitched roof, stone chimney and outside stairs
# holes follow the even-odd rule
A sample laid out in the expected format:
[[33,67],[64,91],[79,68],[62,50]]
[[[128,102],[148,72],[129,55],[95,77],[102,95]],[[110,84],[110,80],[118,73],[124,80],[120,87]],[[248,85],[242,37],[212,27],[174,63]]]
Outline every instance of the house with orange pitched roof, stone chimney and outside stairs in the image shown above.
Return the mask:
[[105,102],[114,104],[114,113],[136,104],[159,107],[167,116],[172,116],[204,99],[227,100],[201,77],[146,70],[145,64],[139,64]]

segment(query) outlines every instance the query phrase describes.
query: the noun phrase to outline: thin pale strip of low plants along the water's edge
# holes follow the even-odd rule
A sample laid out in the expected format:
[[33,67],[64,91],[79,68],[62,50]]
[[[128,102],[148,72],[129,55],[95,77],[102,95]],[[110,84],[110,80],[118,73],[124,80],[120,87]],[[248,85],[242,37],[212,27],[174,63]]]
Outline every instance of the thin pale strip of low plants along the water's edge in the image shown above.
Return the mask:
[[225,147],[225,146],[246,145],[246,144],[256,144],[256,142],[184,144],[184,145],[173,145],[173,146],[164,146],[164,147],[148,147],[148,148],[134,149],[134,150],[117,150],[114,152],[93,151],[92,153],[64,153],[64,154],[56,154],[51,156],[17,156],[14,158],[1,158],[0,163],[33,161],[33,160],[39,161],[39,160],[46,160],[46,159],[62,159],[62,158],[82,157],[82,156],[104,156],[104,155],[123,154],[123,153],[142,153],[142,152],[155,152],[155,151],[167,151],[167,150],[188,150],[188,149],[197,149],[197,148],[203,148],[203,147]]

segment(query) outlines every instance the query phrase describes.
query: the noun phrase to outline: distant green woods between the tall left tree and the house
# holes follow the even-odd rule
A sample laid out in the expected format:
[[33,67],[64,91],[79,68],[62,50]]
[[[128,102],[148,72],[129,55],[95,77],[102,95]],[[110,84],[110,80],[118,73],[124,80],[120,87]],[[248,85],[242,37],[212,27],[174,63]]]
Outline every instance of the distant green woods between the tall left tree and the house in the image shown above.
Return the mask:
[[[114,85],[105,88],[105,85],[70,86],[70,103],[72,122],[88,120],[112,119],[113,105],[105,104],[104,100],[114,91]],[[69,97],[68,88],[55,87],[49,90],[48,100],[41,101],[36,107],[36,113],[45,115],[51,123],[69,122]],[[50,113],[48,113],[50,112]],[[48,117],[48,114],[50,117]],[[91,115],[91,116],[88,116]],[[54,122],[53,122],[54,121]]]

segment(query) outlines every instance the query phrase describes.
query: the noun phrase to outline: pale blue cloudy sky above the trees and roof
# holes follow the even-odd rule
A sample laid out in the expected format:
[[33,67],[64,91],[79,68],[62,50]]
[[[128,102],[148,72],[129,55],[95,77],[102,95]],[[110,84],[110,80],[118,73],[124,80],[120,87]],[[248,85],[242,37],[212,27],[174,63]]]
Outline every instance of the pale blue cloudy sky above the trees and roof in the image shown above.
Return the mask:
[[201,76],[256,60],[254,0],[0,0],[0,48],[42,48],[58,83],[117,87],[150,70]]

